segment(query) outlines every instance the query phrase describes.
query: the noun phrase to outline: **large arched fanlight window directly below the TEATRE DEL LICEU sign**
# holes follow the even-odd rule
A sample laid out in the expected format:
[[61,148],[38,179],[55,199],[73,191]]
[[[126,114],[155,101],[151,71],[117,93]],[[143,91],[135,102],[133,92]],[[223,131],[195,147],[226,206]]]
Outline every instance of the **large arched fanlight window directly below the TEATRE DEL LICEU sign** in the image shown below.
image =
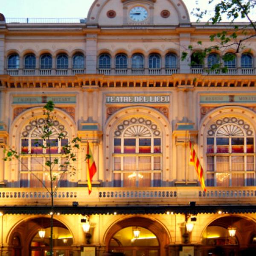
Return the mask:
[[113,185],[161,185],[161,132],[143,117],[132,117],[114,132]]

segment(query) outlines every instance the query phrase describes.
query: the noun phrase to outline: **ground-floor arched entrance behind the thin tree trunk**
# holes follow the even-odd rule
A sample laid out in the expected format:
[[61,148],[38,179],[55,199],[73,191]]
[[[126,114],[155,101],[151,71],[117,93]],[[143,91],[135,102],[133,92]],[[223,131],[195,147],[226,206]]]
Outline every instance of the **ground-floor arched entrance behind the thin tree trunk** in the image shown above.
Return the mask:
[[[44,230],[40,237],[38,231]],[[12,256],[47,256],[50,250],[50,218],[34,218],[18,225],[11,239]],[[54,256],[73,256],[73,236],[60,221],[53,220]],[[21,246],[22,245],[22,246]]]

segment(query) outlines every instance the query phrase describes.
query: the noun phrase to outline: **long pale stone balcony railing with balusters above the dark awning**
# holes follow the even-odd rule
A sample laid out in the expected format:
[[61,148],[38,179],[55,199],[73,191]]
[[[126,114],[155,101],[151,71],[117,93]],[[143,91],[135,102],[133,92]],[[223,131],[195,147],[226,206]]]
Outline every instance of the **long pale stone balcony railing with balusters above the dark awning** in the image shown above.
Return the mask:
[[[123,205],[159,204],[256,204],[256,187],[211,187],[207,192],[200,187],[143,187],[143,188],[93,188],[88,196],[86,188],[59,188],[55,193],[56,205]],[[1,205],[49,205],[50,195],[42,188],[0,188]]]

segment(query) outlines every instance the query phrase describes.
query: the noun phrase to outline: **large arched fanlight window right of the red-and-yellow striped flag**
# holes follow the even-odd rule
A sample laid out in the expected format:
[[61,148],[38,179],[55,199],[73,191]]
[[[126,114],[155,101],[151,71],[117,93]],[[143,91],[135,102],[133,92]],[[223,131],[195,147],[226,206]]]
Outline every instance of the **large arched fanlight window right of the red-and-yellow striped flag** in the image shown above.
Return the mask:
[[207,132],[207,186],[254,186],[254,132],[243,119],[224,117]]

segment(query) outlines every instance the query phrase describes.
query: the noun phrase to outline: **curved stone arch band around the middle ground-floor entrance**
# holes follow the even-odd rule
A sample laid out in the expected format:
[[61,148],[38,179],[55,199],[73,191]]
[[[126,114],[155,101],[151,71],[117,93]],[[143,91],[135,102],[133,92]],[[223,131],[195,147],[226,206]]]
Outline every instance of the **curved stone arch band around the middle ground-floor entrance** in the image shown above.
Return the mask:
[[111,238],[114,236],[114,234],[119,230],[130,226],[144,227],[145,229],[148,229],[152,233],[154,233],[160,245],[160,256],[166,255],[165,247],[169,245],[171,241],[170,234],[167,231],[166,227],[164,227],[163,224],[156,220],[140,216],[125,218],[121,221],[117,221],[106,231],[104,235],[104,240],[107,251]]

